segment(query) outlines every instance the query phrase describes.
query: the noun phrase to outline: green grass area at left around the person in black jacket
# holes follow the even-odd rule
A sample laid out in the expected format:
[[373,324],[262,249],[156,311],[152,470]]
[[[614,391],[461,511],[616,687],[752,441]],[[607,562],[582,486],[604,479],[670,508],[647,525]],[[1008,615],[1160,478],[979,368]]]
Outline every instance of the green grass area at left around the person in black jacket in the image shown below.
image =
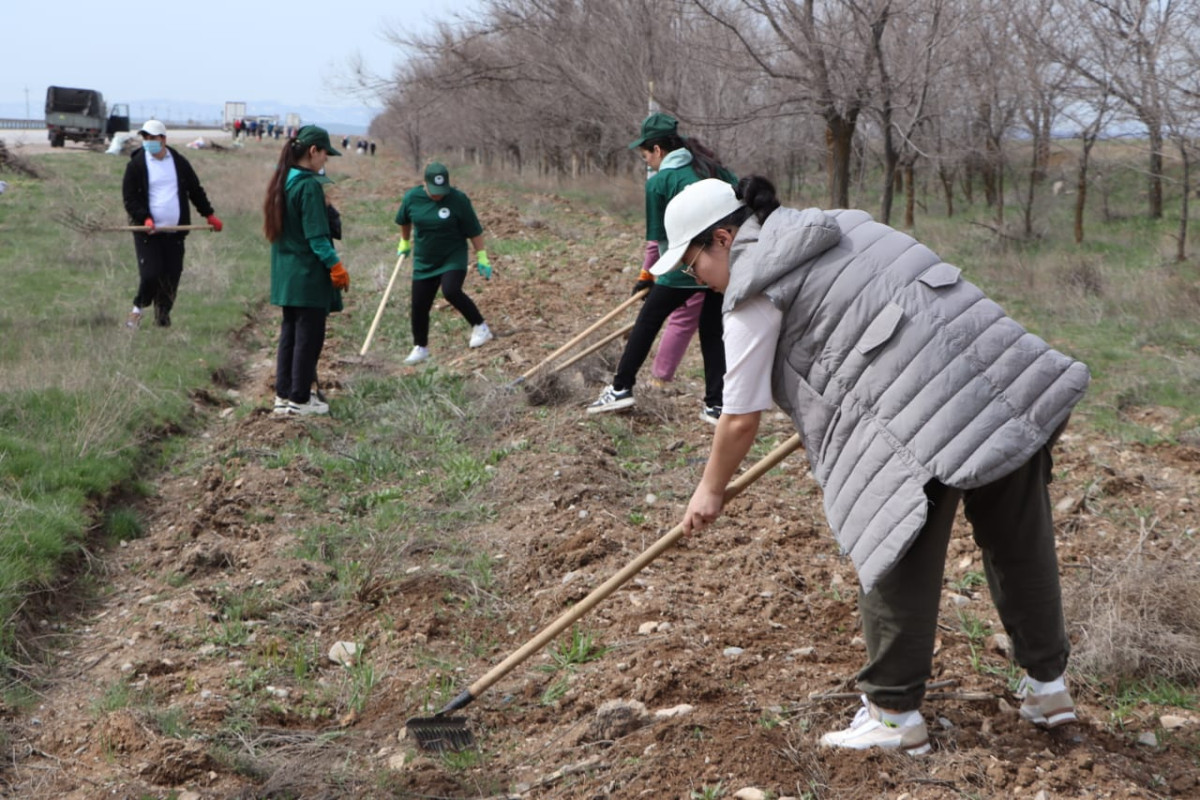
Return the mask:
[[[31,156],[48,178],[23,180],[6,203],[0,271],[0,619],[49,588],[79,552],[92,509],[144,494],[139,475],[160,443],[194,422],[190,393],[235,369],[230,333],[265,294],[264,246],[239,180],[240,156],[190,154],[218,213],[220,234],[187,240],[174,327],[131,332],[137,289],[128,234],[80,234],[55,219],[67,209],[124,224],[125,158]],[[7,198],[6,198],[7,199]],[[102,512],[110,541],[142,535],[131,507]],[[13,626],[0,634],[12,648]]]

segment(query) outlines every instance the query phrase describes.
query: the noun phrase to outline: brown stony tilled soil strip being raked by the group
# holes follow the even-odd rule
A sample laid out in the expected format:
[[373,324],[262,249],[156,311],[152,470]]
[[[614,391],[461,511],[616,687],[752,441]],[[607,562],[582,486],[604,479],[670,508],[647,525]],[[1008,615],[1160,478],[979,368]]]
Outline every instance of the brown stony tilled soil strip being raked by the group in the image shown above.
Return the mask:
[[[490,235],[522,234],[502,197],[479,192],[475,200]],[[544,201],[565,206],[552,196]],[[611,230],[608,249],[583,251],[564,237],[566,258],[532,257],[545,260],[536,290],[504,279],[503,263],[497,279],[474,283],[498,338],[443,365],[475,375],[481,403],[508,404],[494,441],[521,445],[478,498],[494,505],[494,517],[445,531],[494,559],[491,587],[446,573],[434,553],[413,552],[378,591],[318,591],[336,582],[336,567],[292,555],[295,531],[341,524],[344,511],[302,503],[319,470],[278,465],[270,455],[296,437],[336,435],[340,422],[272,419],[271,350],[246,351],[241,385],[197,398],[208,423],[188,443],[188,463],[200,465],[155,479],[146,535],[95,553],[95,596],[42,626],[53,637],[53,679],[36,706],[7,715],[5,796],[689,799],[746,787],[773,798],[1200,796],[1195,712],[1172,710],[1189,721],[1169,733],[1159,714],[1170,709],[1139,708],[1118,724],[1108,690],[1078,682],[1078,724],[1046,733],[1018,718],[1009,679],[1019,673],[1000,644],[964,632],[965,614],[998,627],[986,589],[965,579],[982,566],[961,521],[924,709],[934,752],[820,750],[820,735],[854,714],[864,651],[854,571],[832,542],[802,452],[583,620],[606,648],[601,657],[564,673],[539,654],[468,706],[474,751],[445,758],[404,739],[404,721],[428,712],[420,703],[432,679],[467,686],[584,597],[678,521],[702,469],[679,456],[704,452],[712,435],[697,419],[698,353],[678,381],[640,386],[631,413],[605,420],[582,409],[608,375],[598,360],[534,381],[528,393],[503,391],[547,343],[565,342],[626,296],[632,278],[622,269],[637,258],[638,231],[602,215],[589,219]],[[347,317],[370,319],[378,295],[348,299]],[[442,306],[436,314],[455,313]],[[320,368],[335,410],[337,387],[361,368],[356,342],[340,332],[347,324],[335,320]],[[256,325],[262,330],[247,338],[269,342],[274,313]],[[372,368],[400,374],[407,348],[379,347]],[[1165,414],[1135,413],[1147,423]],[[764,439],[791,433],[782,415],[767,415]],[[630,463],[618,456],[617,435],[659,441],[660,452]],[[1076,420],[1057,456],[1068,600],[1132,557],[1195,564],[1187,545],[1200,450],[1112,441]],[[276,507],[288,511],[263,512]],[[222,599],[268,585],[269,610],[250,632],[254,646],[214,642]],[[1086,636],[1078,621],[1076,640]],[[335,642],[367,648],[379,680],[361,714],[317,716],[295,686],[253,686],[271,702],[234,724],[234,687],[253,684],[248,654],[269,651],[274,639],[287,646],[284,631],[311,644],[310,668],[328,686],[349,680],[324,656]],[[122,684],[154,697],[178,724],[119,703],[108,710],[104,698]],[[229,730],[240,732],[233,757]],[[220,758],[211,747],[218,732],[227,745]],[[1158,736],[1140,744],[1147,733]]]

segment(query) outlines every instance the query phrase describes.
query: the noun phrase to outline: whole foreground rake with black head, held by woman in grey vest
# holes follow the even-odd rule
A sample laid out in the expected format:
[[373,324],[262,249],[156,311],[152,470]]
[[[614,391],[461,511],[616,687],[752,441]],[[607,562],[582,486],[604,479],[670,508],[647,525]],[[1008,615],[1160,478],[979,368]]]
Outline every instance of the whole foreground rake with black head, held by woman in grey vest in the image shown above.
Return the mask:
[[[796,434],[767,453],[762,461],[739,475],[725,488],[725,503],[728,503],[740,494],[748,486],[762,477],[773,467],[775,467],[775,464],[787,458],[787,456],[794,452],[799,446],[800,437],[799,434]],[[466,717],[450,717],[446,715],[451,711],[457,711],[458,709],[464,708],[482,692],[487,691],[492,684],[509,674],[514,667],[546,646],[551,639],[570,627],[581,616],[599,604],[600,601],[605,600],[626,581],[641,572],[646,565],[671,548],[680,536],[683,536],[683,525],[676,525],[670,533],[643,551],[641,555],[625,565],[620,572],[605,581],[602,584],[593,589],[592,594],[587,597],[563,612],[558,619],[542,628],[538,636],[526,642],[520,650],[492,667],[486,675],[472,684],[466,691],[458,694],[458,697],[454,698],[454,700],[451,700],[444,709],[431,717],[413,717],[408,720],[404,723],[407,734],[416,740],[416,745],[421,750],[464,750],[474,745],[474,736],[467,727]]]

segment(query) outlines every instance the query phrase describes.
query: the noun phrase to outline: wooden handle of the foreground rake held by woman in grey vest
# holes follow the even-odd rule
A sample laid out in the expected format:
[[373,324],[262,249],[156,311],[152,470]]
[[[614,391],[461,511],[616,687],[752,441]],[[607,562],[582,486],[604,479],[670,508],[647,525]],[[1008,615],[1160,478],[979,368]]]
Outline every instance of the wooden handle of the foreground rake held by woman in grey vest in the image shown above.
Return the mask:
[[[748,486],[750,486],[760,477],[762,477],[764,474],[770,471],[770,469],[774,468],[775,464],[778,464],[779,462],[784,461],[790,455],[796,452],[796,450],[799,449],[799,446],[800,446],[800,434],[797,433],[792,435],[792,438],[790,438],[787,441],[782,443],[781,445],[772,450],[769,453],[763,456],[762,461],[756,463],[746,471],[742,473],[742,475],[739,475],[732,483],[725,487],[725,503],[728,503],[737,495],[742,494],[742,492],[745,491]],[[683,525],[676,525],[674,528],[672,528],[670,533],[667,533],[656,542],[650,545],[642,552],[641,555],[638,555],[636,559],[625,565],[625,567],[622,569],[620,572],[618,572],[617,575],[612,576],[611,578],[601,583],[599,587],[592,590],[592,594],[589,594],[580,602],[575,603],[575,606],[572,606],[568,610],[563,612],[563,614],[558,619],[556,619],[553,622],[544,627],[541,632],[538,633],[538,636],[526,642],[520,650],[510,655],[500,663],[492,667],[492,669],[488,670],[486,675],[484,675],[474,684],[472,684],[470,687],[468,687],[467,691],[464,691],[462,694],[455,698],[455,700],[450,703],[450,705],[439,711],[438,716],[448,711],[460,709],[463,705],[467,705],[467,703],[479,697],[482,692],[487,691],[487,688],[491,687],[492,684],[498,681],[500,678],[504,678],[504,675],[509,674],[514,667],[516,667],[522,661],[532,656],[534,652],[541,650],[544,646],[546,646],[546,644],[550,643],[551,639],[553,639],[556,636],[558,636],[568,627],[574,625],[576,621],[578,621],[581,616],[583,616],[589,610],[595,608],[600,603],[600,601],[608,597],[608,595],[614,593],[626,581],[629,581],[635,575],[646,569],[646,565],[648,565],[650,561],[656,559],[664,552],[670,549],[677,541],[679,541],[682,536],[683,536]]]

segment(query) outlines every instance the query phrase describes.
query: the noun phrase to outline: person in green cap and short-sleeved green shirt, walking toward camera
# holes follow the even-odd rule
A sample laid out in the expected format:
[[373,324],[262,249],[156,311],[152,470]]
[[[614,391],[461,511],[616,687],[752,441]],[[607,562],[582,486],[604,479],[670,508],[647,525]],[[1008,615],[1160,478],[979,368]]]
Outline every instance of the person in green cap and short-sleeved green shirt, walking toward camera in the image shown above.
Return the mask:
[[[430,309],[438,289],[442,296],[470,324],[473,348],[492,338],[484,315],[462,290],[467,278],[467,240],[475,248],[475,269],[485,281],[492,277],[492,265],[484,249],[484,227],[466,193],[450,186],[450,172],[438,162],[425,168],[425,184],[404,193],[396,212],[400,225],[401,255],[413,255],[413,351],[404,363],[420,363],[430,357]],[[415,230],[414,230],[415,229]]]

